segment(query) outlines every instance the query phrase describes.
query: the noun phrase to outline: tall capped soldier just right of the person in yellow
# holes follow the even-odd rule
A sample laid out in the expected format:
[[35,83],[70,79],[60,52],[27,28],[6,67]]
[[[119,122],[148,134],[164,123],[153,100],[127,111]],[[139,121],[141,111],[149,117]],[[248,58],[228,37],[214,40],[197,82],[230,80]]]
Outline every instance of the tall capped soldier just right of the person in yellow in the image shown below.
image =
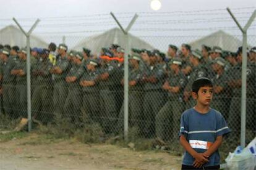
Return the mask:
[[63,113],[63,105],[67,97],[67,83],[65,81],[66,75],[69,71],[69,61],[67,60],[67,46],[59,44],[58,47],[59,57],[56,65],[51,68],[50,73],[54,75],[53,86],[53,103],[54,113],[61,116]]

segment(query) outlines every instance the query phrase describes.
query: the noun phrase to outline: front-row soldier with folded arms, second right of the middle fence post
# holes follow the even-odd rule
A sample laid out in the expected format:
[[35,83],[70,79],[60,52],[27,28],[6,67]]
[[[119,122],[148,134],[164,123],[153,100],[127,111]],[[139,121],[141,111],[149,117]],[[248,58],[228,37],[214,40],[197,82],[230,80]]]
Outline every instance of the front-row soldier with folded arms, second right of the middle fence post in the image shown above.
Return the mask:
[[145,119],[144,133],[146,137],[155,134],[155,116],[163,107],[164,92],[161,89],[164,81],[164,71],[157,63],[157,57],[150,55],[150,65],[143,69],[144,83],[143,117]]

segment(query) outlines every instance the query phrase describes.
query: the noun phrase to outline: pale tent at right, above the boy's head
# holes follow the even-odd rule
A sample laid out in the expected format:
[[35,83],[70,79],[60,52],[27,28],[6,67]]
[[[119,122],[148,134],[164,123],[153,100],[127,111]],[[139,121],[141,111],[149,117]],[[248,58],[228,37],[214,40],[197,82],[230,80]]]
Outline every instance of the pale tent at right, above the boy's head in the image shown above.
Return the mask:
[[231,34],[219,30],[213,34],[192,41],[189,44],[192,49],[201,49],[202,44],[205,44],[210,47],[220,46],[223,50],[235,52],[238,47],[242,46],[242,41]]

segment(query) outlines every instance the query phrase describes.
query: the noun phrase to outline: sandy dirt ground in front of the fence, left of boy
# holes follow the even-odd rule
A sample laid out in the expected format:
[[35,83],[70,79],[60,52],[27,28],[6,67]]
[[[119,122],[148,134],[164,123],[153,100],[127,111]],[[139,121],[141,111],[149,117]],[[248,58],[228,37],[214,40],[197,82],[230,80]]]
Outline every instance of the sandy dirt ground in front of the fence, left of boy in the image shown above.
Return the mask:
[[[1,137],[1,134],[0,134]],[[181,157],[27,134],[1,141],[0,169],[180,169]]]

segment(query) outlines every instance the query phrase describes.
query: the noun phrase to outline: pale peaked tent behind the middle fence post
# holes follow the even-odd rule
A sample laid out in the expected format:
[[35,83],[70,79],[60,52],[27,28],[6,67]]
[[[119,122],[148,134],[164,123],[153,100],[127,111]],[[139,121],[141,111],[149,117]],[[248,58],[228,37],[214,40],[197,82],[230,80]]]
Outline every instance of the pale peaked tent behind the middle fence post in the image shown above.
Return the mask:
[[[153,46],[132,34],[129,34],[129,41],[131,48],[153,49]],[[119,28],[113,28],[105,33],[85,38],[85,40],[81,41],[72,49],[82,51],[82,48],[86,47],[90,49],[93,54],[97,54],[101,51],[102,47],[109,47],[111,44],[119,44],[119,46],[125,47],[126,42],[123,33]]]

